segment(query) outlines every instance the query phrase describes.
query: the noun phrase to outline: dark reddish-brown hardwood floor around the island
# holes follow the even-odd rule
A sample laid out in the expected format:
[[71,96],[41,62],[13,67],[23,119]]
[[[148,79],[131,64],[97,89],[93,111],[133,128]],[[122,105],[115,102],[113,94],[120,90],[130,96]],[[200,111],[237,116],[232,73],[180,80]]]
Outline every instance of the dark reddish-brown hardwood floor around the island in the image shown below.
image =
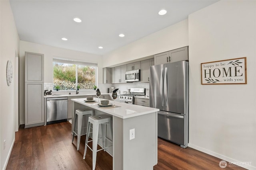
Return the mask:
[[[6,170],[91,170],[92,152],[84,155],[85,135],[81,137],[79,151],[76,137],[71,143],[71,124],[55,123],[24,129],[15,133],[16,140]],[[221,160],[198,150],[158,138],[158,164],[154,170],[213,170],[220,168]],[[97,153],[96,170],[111,170],[112,157],[103,150]],[[224,169],[240,170],[238,166]]]

